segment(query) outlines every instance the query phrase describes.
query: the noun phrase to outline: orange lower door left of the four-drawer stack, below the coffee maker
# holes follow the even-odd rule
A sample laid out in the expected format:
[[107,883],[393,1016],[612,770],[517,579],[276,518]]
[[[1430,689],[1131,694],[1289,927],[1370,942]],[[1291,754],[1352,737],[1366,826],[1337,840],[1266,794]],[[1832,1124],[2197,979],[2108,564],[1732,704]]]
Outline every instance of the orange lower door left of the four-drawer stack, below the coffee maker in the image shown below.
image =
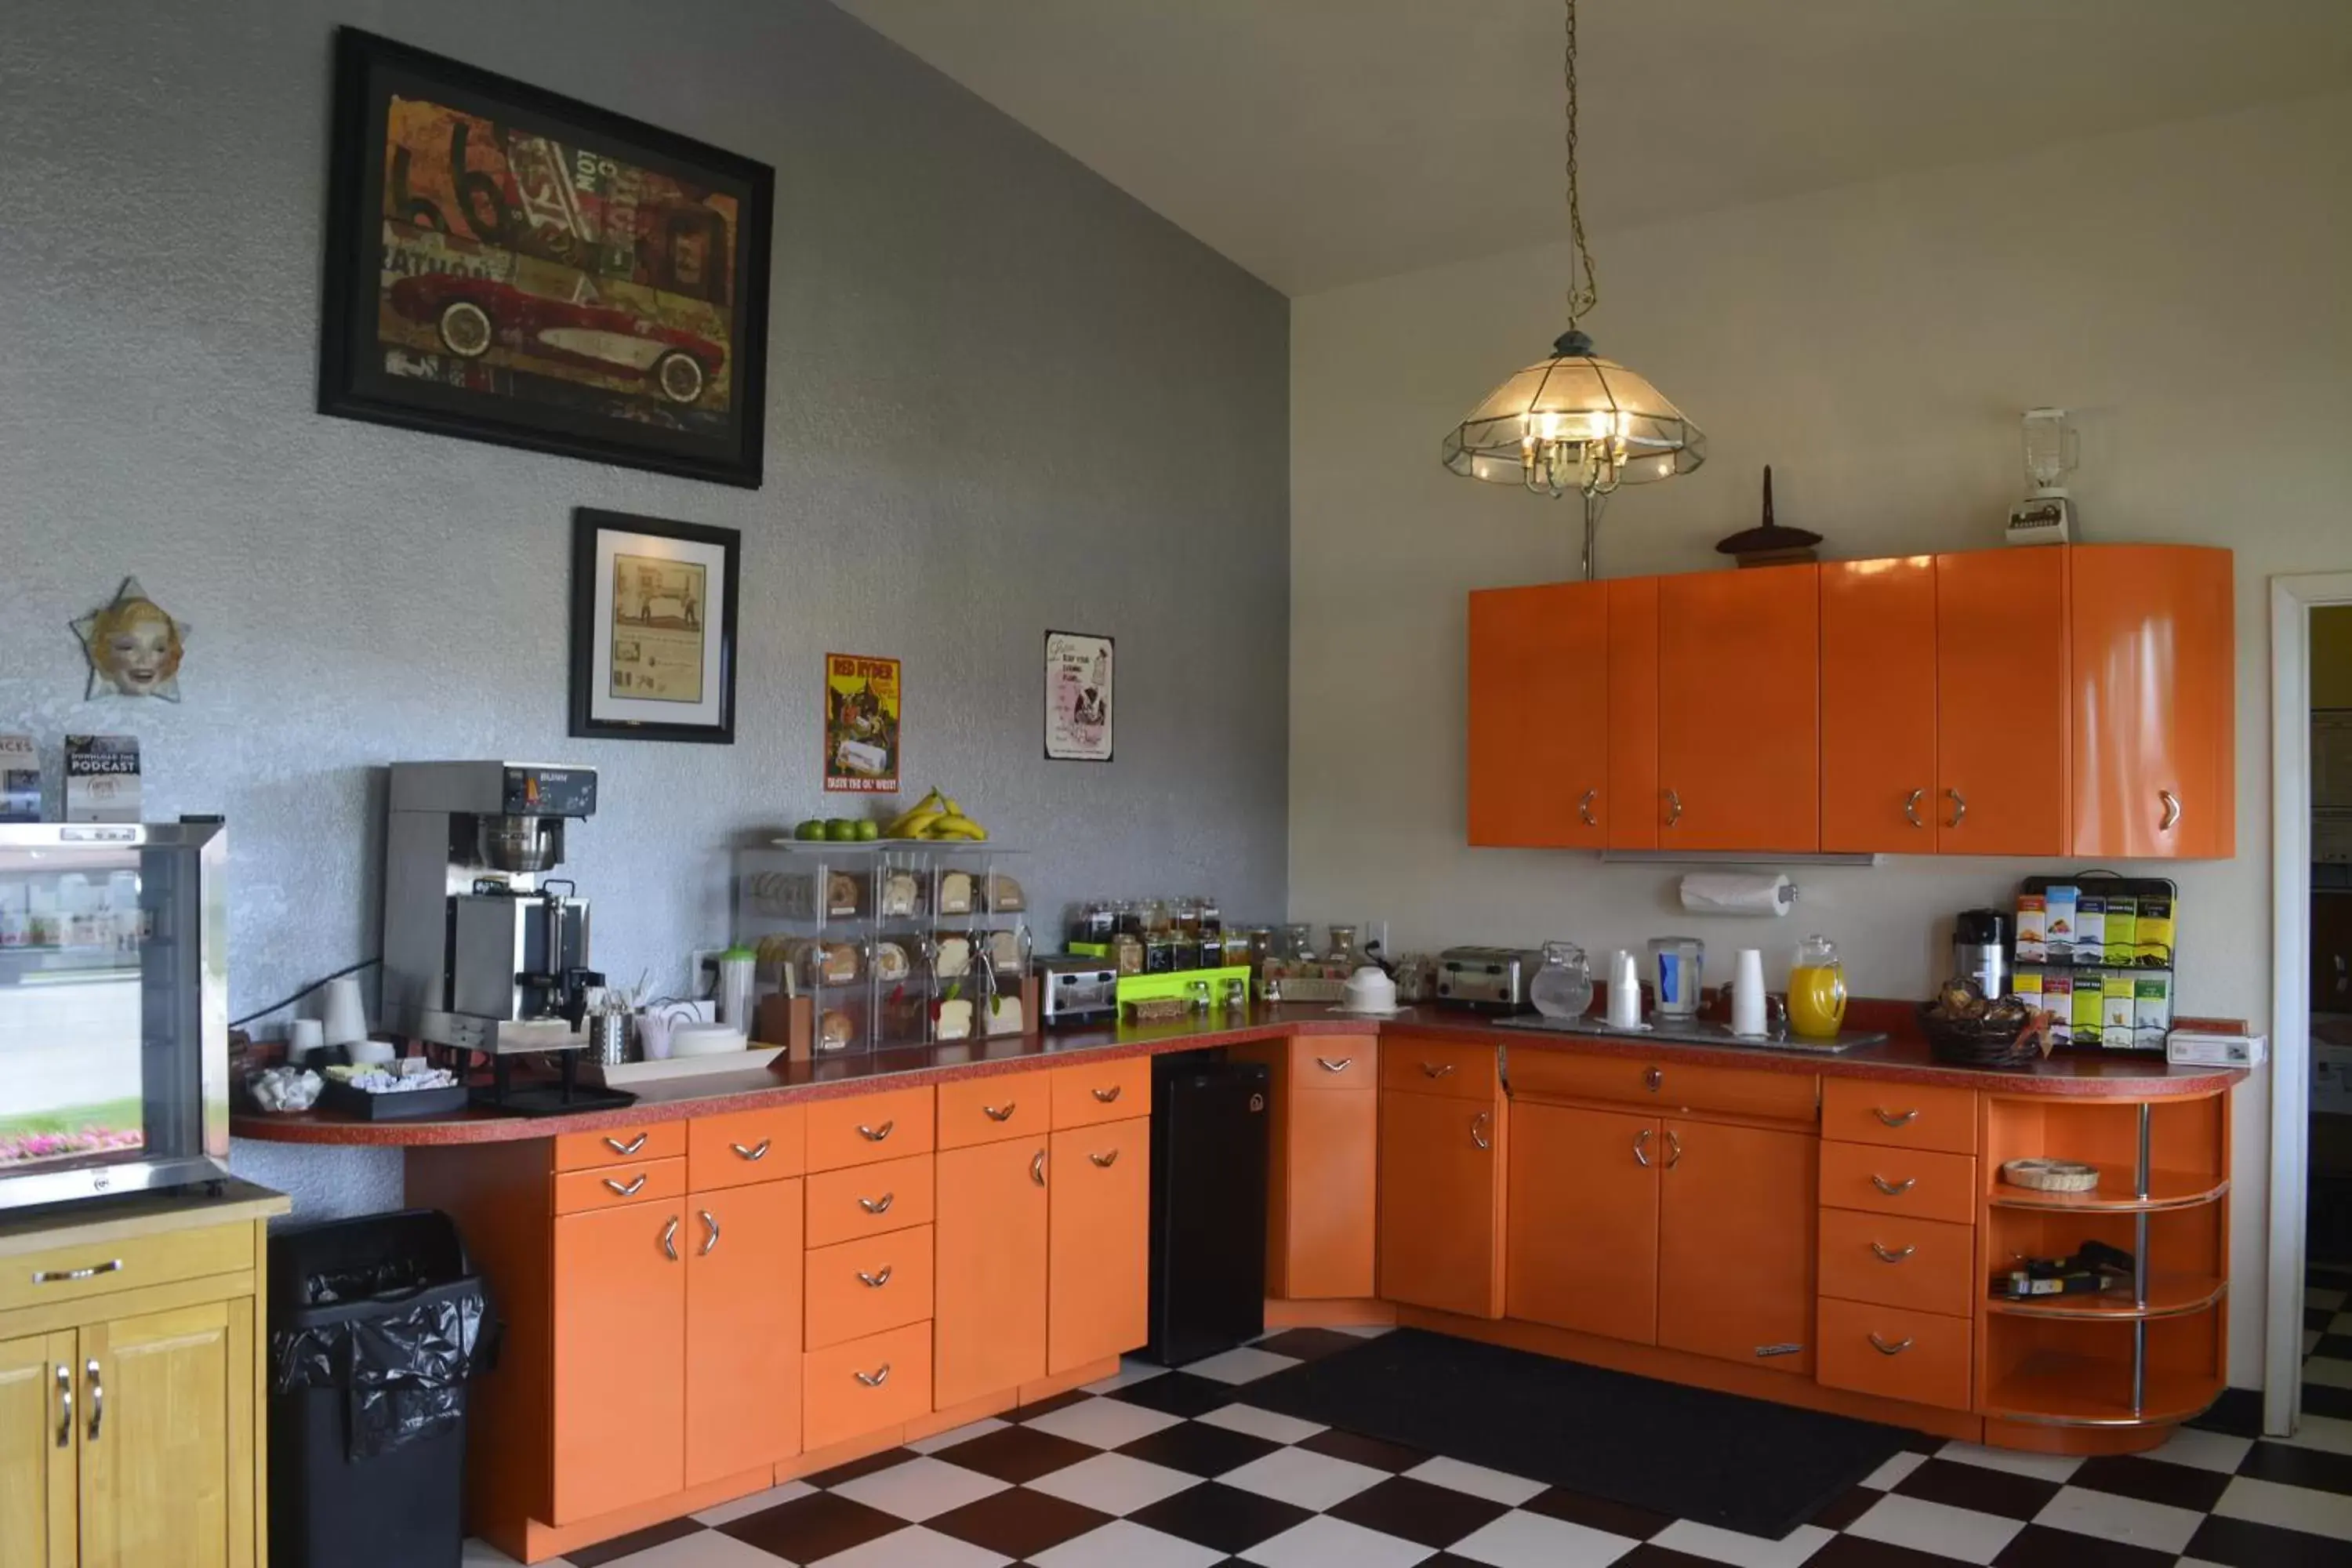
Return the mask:
[[687,1486],[800,1453],[797,1180],[687,1199]]

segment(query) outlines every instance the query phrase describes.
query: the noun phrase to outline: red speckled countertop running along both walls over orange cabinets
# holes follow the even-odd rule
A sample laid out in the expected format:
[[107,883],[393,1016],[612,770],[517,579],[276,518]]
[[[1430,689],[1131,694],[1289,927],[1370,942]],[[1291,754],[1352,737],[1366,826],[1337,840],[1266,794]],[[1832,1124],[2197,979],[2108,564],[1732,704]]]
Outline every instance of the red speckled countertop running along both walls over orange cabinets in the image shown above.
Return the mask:
[[506,1143],[517,1138],[553,1138],[588,1133],[673,1117],[708,1117],[731,1110],[757,1110],[793,1100],[830,1100],[877,1088],[913,1088],[948,1079],[990,1077],[1054,1067],[1068,1058],[1091,1060],[1122,1056],[1160,1056],[1202,1046],[1240,1046],[1284,1034],[1449,1034],[1503,1044],[1510,1051],[1583,1051],[1590,1056],[1637,1056],[1653,1060],[1703,1063],[1710,1067],[1750,1067],[1759,1072],[1818,1072],[1828,1077],[1900,1079],[1907,1084],[1947,1084],[1955,1088],[1990,1088],[2013,1095],[2084,1095],[2110,1100],[2169,1100],[2209,1095],[2230,1088],[2246,1074],[2234,1067],[2171,1067],[2154,1056],[2053,1056],[2030,1070],[1983,1072],[1950,1067],[1929,1056],[1926,1041],[1907,1037],[1910,1004],[1872,1004],[1858,999],[1849,1013],[1856,1030],[1886,1030],[1884,1046],[1863,1046],[1844,1056],[1804,1051],[1769,1051],[1762,1046],[1682,1046],[1653,1039],[1609,1039],[1592,1034],[1541,1034],[1498,1030],[1494,1020],[1470,1013],[1406,1009],[1395,1018],[1348,1018],[1327,1006],[1261,1006],[1247,1020],[1124,1025],[1101,1030],[1065,1030],[1056,1034],[1018,1034],[953,1046],[908,1046],[861,1056],[828,1056],[809,1063],[779,1058],[774,1067],[713,1072],[668,1084],[644,1084],[637,1103],[621,1110],[581,1112],[574,1117],[506,1117],[466,1112],[459,1117],[419,1117],[414,1121],[355,1121],[325,1112],[238,1112],[230,1133],[268,1143],[327,1145],[435,1145],[435,1143]]

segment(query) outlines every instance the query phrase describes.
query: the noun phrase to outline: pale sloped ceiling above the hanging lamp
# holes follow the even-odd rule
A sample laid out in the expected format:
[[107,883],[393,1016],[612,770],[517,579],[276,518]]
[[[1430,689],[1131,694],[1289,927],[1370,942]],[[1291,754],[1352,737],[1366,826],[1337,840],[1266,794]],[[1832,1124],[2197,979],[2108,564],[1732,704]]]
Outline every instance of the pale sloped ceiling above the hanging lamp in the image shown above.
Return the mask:
[[[835,2],[1287,294],[1564,235],[1552,0]],[[2352,0],[1585,0],[1581,33],[1595,228],[2352,85]]]

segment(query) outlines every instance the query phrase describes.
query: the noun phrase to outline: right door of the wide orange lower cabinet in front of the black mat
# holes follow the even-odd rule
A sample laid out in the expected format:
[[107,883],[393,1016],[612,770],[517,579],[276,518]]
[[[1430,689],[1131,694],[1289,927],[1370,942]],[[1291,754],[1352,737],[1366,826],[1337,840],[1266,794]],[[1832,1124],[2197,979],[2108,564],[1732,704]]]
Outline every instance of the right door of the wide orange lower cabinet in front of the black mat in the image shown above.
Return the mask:
[[1813,1371],[1818,1138],[1668,1117],[1658,1345]]

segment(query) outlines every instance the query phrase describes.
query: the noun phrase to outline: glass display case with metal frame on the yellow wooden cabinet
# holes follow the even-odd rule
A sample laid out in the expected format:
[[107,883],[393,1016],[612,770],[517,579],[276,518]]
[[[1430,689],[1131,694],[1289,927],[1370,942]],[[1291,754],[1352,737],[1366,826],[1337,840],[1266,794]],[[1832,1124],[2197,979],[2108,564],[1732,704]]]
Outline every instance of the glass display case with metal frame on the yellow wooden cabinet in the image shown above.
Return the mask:
[[228,1175],[228,832],[0,825],[0,1208]]

